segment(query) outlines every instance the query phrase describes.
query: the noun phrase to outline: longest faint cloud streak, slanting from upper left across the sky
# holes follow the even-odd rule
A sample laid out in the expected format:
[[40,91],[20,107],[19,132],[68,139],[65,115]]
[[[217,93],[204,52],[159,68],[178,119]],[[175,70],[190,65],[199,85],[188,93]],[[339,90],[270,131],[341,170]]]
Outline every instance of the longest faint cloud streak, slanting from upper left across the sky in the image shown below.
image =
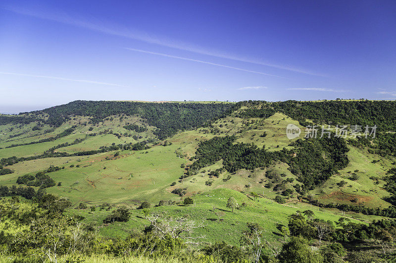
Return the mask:
[[187,43],[175,39],[166,38],[164,36],[155,36],[153,34],[149,34],[147,32],[142,32],[136,29],[126,28],[125,26],[110,23],[108,21],[103,22],[102,20],[95,20],[91,18],[91,21],[87,21],[86,19],[79,19],[77,17],[72,17],[65,13],[56,13],[54,10],[48,12],[38,12],[33,11],[28,8],[17,7],[17,6],[6,6],[3,7],[8,11],[12,11],[18,14],[29,15],[40,19],[46,19],[51,21],[56,21],[63,24],[73,25],[80,28],[85,28],[91,31],[100,32],[103,34],[119,36],[124,38],[135,39],[151,44],[157,44],[161,46],[171,47],[179,50],[185,50],[189,52],[194,52],[202,55],[208,55],[218,58],[230,59],[240,62],[246,62],[261,66],[272,67],[281,70],[287,70],[291,72],[297,72],[306,75],[317,75],[317,76],[325,76],[322,74],[318,74],[306,69],[300,69],[292,66],[285,66],[285,65],[277,65],[274,63],[267,63],[263,61],[254,60],[251,58],[245,58],[241,56],[226,54],[224,52],[220,52],[218,50],[208,50],[207,48]]

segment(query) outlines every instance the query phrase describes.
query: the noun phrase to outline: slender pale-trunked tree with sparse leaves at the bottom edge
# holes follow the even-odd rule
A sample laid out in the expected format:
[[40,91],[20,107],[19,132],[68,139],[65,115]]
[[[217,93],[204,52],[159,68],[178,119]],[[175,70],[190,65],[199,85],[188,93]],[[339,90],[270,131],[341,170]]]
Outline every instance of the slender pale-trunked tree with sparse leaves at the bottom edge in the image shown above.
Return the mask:
[[241,245],[247,247],[254,262],[258,263],[261,250],[265,247],[265,242],[262,242],[263,229],[256,223],[247,223],[247,228],[248,230],[243,232],[240,242]]

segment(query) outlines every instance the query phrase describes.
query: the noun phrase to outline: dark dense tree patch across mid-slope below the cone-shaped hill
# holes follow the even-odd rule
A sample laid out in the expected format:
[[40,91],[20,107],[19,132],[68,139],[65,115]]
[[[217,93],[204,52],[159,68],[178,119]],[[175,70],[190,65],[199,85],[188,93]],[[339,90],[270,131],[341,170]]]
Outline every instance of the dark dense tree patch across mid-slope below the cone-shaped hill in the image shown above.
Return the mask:
[[347,145],[339,137],[299,139],[291,144],[295,149],[280,151],[260,149],[254,144],[234,144],[235,140],[235,136],[225,136],[201,142],[194,157],[196,160],[188,167],[186,176],[221,159],[229,172],[268,167],[273,161],[282,161],[289,164],[290,171],[303,183],[297,191],[305,192],[325,182],[348,164]]

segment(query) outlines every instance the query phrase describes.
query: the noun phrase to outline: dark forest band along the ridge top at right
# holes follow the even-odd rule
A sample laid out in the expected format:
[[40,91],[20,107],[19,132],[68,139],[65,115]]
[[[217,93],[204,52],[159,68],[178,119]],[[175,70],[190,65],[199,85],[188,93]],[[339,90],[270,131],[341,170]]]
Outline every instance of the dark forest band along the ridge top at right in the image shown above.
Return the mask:
[[260,109],[247,109],[240,113],[243,117],[264,117],[281,112],[306,126],[309,119],[317,124],[330,125],[377,125],[379,131],[396,130],[396,101],[244,101],[244,106],[258,106]]

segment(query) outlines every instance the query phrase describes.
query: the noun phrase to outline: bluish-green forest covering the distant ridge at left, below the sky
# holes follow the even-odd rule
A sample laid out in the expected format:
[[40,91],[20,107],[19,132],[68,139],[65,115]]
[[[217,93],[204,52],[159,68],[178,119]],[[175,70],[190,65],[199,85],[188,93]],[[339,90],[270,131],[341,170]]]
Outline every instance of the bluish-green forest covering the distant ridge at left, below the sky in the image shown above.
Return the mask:
[[[195,129],[207,121],[214,120],[231,113],[240,104],[231,103],[143,103],[120,101],[74,101],[65,105],[51,107],[33,114],[48,114],[43,123],[60,126],[71,119],[72,115],[91,116],[91,123],[98,123],[111,115],[139,115],[147,123],[158,129],[154,134],[164,139],[180,130]],[[16,121],[5,116],[4,124]],[[18,121],[32,122],[37,119],[17,116]]]

